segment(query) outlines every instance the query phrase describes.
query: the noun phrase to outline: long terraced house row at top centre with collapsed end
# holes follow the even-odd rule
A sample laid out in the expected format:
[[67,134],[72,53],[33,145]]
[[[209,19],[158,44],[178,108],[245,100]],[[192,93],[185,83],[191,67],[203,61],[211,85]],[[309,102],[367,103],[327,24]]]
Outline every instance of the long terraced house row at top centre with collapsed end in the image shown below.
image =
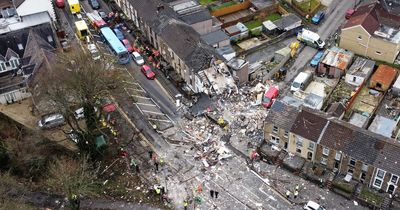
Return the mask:
[[195,93],[201,92],[197,72],[211,68],[213,58],[218,55],[200,39],[200,34],[181,21],[164,1],[118,0],[116,3],[188,87]]

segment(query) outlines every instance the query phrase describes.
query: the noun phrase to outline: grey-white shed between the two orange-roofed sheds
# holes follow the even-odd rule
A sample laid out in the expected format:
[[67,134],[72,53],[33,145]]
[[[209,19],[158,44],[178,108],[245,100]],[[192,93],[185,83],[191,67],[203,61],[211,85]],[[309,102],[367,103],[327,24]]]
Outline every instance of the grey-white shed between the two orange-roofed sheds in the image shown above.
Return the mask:
[[357,57],[346,73],[346,83],[354,86],[362,85],[374,71],[375,61]]

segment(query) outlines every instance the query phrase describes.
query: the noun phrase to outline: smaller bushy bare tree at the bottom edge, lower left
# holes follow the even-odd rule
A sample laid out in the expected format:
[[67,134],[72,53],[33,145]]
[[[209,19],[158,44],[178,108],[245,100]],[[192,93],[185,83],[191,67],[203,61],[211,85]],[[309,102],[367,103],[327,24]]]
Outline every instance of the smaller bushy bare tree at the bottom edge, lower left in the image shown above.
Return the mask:
[[63,158],[49,169],[48,186],[68,198],[71,209],[79,209],[81,196],[97,195],[101,183],[97,180],[98,167],[89,163],[88,156],[79,160]]

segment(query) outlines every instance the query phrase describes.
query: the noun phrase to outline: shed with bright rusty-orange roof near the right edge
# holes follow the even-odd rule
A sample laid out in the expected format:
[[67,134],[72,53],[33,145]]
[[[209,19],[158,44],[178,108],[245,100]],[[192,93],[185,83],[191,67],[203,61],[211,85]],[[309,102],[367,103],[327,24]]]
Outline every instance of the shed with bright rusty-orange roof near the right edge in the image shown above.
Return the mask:
[[378,91],[387,91],[397,77],[397,69],[388,65],[379,65],[369,81],[369,87]]

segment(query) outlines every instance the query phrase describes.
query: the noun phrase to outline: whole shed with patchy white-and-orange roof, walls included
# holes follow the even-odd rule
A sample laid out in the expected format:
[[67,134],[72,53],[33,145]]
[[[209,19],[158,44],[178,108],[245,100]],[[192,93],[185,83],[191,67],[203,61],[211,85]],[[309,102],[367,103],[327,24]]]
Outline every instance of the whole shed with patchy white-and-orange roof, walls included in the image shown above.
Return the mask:
[[317,74],[339,78],[344,75],[353,57],[354,53],[351,51],[339,47],[331,47],[326,50],[323,59],[319,63]]

